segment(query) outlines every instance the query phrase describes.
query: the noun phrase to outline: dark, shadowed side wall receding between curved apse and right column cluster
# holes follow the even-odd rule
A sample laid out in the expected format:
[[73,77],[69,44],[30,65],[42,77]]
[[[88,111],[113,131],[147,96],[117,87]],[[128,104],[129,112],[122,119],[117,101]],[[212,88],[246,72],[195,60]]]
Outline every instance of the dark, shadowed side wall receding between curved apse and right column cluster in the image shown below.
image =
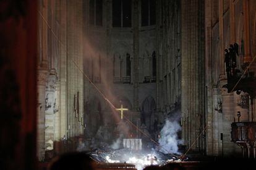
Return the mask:
[[157,105],[164,113],[181,111],[181,2],[158,1],[156,25]]

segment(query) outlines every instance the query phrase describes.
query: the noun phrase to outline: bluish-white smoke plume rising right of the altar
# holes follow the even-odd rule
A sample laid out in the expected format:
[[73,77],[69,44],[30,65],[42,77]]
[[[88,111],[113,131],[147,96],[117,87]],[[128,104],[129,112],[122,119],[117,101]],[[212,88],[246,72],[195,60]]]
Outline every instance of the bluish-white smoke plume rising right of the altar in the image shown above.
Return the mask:
[[178,145],[182,143],[177,136],[181,126],[179,125],[179,116],[174,114],[171,119],[167,119],[164,123],[163,129],[161,129],[161,135],[158,142],[160,143],[160,151],[163,153],[179,153]]

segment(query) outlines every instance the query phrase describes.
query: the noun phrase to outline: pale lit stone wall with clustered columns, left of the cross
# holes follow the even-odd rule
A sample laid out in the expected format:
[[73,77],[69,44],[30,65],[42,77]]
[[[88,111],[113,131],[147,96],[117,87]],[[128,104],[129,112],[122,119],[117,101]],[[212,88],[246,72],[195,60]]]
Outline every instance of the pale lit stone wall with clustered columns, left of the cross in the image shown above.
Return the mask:
[[[83,134],[82,1],[48,1],[38,10],[38,157]],[[56,146],[57,148],[54,148]]]

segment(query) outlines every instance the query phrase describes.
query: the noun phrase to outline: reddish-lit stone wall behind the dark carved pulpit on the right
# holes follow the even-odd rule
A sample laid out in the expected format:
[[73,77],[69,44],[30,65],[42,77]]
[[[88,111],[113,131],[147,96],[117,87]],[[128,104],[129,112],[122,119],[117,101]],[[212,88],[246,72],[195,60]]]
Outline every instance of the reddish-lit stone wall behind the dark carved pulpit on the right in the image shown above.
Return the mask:
[[[255,39],[252,15],[255,15],[255,5],[253,1],[205,1],[207,155],[241,153],[241,149],[231,142],[231,123],[237,121],[237,111],[241,112],[240,121],[249,121],[251,108],[247,94],[228,93],[222,88],[227,83],[224,49],[237,43],[239,67],[252,61]],[[241,105],[241,101],[247,104]]]

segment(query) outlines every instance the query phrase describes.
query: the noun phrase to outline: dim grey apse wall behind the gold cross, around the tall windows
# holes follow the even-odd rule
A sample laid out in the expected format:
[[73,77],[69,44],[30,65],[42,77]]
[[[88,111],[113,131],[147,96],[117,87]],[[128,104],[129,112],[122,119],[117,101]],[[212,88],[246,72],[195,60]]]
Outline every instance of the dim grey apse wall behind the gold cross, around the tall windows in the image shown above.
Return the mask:
[[[85,80],[89,85],[84,91],[85,137],[93,137],[100,126],[113,120],[114,111],[105,97],[116,108],[121,100],[126,103],[131,109],[128,114],[134,115],[131,120],[139,127],[146,124],[152,130],[155,121],[163,125],[164,117],[180,111],[181,106],[181,4],[155,1],[156,24],[142,26],[142,1],[131,1],[131,26],[113,27],[113,1],[103,1],[102,25],[89,22],[90,3],[83,3],[85,74],[104,94]],[[127,55],[130,75],[127,75]],[[154,55],[156,75],[153,75]],[[147,103],[155,109],[146,111]],[[100,124],[93,125],[90,121],[93,113]]]

